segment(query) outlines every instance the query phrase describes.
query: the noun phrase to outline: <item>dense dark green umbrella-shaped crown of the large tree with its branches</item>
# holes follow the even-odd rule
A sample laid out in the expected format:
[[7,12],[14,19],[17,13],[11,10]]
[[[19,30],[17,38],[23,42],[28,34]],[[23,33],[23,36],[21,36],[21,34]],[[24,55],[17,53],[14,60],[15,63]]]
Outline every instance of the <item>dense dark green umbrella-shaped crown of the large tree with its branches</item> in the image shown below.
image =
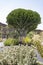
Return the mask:
[[36,29],[41,23],[41,17],[36,11],[15,9],[8,14],[7,23],[12,25],[20,36],[25,36]]

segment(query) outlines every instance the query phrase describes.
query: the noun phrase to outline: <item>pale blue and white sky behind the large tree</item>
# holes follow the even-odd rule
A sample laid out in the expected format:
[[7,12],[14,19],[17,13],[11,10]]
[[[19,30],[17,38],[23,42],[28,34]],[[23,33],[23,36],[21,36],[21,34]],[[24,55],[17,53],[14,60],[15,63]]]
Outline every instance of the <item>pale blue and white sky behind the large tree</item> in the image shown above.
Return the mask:
[[0,0],[0,22],[6,24],[7,15],[17,8],[37,11],[41,17],[37,29],[43,30],[43,0]]

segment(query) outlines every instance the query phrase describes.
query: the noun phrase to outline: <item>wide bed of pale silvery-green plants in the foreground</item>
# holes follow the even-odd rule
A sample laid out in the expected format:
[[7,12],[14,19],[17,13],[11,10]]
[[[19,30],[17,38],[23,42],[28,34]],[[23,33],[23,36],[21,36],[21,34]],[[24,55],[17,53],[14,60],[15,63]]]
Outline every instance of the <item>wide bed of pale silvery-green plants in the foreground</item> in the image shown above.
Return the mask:
[[30,46],[9,46],[0,52],[0,65],[37,65],[36,61]]

